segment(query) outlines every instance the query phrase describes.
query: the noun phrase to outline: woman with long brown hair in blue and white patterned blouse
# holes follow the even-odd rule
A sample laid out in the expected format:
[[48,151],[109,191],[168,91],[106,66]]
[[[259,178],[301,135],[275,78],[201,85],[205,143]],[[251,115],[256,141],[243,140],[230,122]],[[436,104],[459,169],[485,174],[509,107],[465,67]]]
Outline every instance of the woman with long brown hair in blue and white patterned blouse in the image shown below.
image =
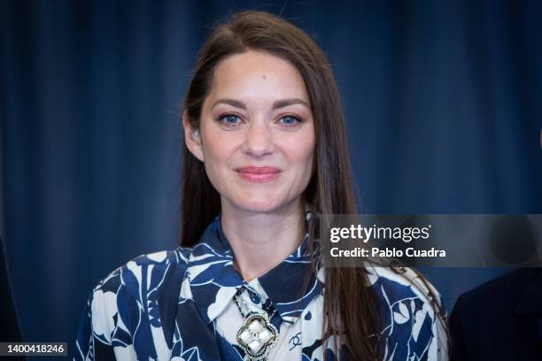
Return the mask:
[[337,86],[309,36],[265,12],[215,28],[183,127],[182,247],[97,285],[76,359],[447,357],[422,277],[319,262],[313,214],[356,209]]

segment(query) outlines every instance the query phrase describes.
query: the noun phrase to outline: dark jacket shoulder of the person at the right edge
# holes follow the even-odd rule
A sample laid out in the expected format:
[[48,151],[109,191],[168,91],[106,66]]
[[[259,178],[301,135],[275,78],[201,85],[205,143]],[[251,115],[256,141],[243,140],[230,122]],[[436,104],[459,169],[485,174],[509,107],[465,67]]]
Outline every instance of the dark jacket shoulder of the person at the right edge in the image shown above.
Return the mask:
[[459,297],[450,317],[454,361],[540,359],[534,319],[516,314],[540,271],[517,269]]

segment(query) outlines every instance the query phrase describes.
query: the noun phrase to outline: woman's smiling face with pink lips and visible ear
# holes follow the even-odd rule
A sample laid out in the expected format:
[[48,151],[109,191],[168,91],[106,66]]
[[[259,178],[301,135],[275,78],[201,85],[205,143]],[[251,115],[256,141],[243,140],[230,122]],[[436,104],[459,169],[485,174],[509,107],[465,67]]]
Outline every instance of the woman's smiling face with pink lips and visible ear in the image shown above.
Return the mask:
[[[223,60],[190,151],[222,206],[269,212],[295,206],[313,173],[314,120],[305,82],[288,61],[258,51]],[[225,202],[227,204],[225,204]]]

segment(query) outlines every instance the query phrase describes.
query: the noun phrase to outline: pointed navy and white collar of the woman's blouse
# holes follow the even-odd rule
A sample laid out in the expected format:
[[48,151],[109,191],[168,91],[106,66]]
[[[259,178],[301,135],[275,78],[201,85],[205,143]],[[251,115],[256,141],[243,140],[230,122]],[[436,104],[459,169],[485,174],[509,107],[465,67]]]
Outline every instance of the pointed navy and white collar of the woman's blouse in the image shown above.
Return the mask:
[[[307,229],[311,221],[306,214]],[[257,280],[283,321],[294,323],[314,296],[323,288],[316,273],[306,282],[312,257],[308,252],[309,237],[306,234],[298,249]],[[316,247],[314,247],[316,249]],[[249,288],[233,266],[233,250],[221,227],[221,214],[205,228],[188,261],[190,290],[197,311],[206,323],[213,321],[232,302],[237,288]],[[253,284],[254,280],[250,283]],[[301,289],[308,285],[306,292]]]

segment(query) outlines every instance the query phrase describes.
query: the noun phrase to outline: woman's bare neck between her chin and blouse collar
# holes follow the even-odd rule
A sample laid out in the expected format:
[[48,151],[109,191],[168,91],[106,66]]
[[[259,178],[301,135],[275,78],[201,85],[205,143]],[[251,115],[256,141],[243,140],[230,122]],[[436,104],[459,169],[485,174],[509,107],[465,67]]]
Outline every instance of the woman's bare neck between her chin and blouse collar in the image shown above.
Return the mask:
[[244,280],[267,273],[296,250],[305,236],[305,203],[299,199],[280,210],[255,212],[222,199],[221,225]]

